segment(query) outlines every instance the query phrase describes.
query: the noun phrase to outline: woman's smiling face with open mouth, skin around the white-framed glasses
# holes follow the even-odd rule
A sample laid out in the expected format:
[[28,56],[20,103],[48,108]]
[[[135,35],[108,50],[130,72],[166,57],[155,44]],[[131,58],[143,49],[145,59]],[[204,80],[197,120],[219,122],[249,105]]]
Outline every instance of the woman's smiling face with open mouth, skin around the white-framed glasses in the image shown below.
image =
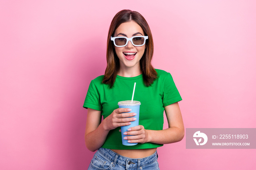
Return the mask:
[[[144,31],[142,27],[139,26],[134,21],[125,22],[120,24],[114,32],[114,37],[116,36],[126,36],[131,38],[132,36],[144,36]],[[129,41],[124,47],[115,47],[117,57],[120,60],[120,69],[125,68],[138,68],[140,67],[140,59],[145,51],[145,45],[143,46],[133,46]]]

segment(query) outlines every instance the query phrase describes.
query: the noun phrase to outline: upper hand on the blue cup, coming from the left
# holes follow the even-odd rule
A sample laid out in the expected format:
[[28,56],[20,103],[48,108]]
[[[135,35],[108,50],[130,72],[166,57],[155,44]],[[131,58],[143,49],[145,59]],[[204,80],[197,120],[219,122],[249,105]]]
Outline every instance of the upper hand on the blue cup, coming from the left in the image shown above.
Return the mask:
[[120,126],[127,126],[131,124],[131,121],[135,121],[134,117],[136,113],[124,113],[129,112],[131,109],[128,108],[118,108],[115,109],[106,119],[105,121],[105,129],[113,130]]

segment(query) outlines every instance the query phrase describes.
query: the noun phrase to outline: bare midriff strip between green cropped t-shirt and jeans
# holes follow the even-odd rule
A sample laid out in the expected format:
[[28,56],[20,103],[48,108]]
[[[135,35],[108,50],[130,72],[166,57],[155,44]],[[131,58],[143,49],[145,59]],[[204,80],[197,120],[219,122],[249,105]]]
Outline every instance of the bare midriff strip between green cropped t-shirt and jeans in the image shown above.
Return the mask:
[[118,149],[111,149],[112,151],[116,152],[117,154],[128,157],[128,158],[145,158],[155,153],[157,148],[150,148],[150,149],[130,149],[130,150],[118,150]]

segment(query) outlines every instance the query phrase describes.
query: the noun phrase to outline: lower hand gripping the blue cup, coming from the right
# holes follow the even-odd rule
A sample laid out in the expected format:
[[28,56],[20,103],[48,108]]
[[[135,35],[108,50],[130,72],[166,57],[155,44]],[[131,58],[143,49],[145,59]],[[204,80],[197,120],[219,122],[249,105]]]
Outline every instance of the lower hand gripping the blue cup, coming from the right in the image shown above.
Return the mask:
[[124,137],[129,143],[146,143],[149,140],[148,130],[144,129],[143,125],[129,128],[127,132],[124,132],[124,135],[133,135]]

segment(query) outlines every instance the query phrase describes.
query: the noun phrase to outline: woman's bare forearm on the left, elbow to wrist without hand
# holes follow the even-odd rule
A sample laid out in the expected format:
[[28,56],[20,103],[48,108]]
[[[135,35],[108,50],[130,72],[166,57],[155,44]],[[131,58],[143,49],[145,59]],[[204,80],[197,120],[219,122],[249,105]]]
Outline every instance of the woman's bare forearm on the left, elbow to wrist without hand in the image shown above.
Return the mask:
[[108,136],[109,130],[106,130],[104,123],[105,121],[103,120],[94,131],[84,137],[86,147],[92,152],[98,150],[104,144]]

